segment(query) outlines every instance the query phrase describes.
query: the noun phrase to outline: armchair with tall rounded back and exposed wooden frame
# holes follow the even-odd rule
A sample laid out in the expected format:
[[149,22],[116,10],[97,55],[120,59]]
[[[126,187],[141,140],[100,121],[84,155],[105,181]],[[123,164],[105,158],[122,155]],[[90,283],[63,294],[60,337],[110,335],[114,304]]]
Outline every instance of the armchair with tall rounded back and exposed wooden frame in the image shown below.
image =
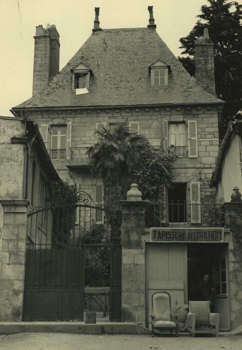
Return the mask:
[[170,309],[170,294],[162,291],[152,295],[152,336],[156,331],[169,330],[172,335],[172,330],[175,329],[177,335],[176,314],[171,313]]

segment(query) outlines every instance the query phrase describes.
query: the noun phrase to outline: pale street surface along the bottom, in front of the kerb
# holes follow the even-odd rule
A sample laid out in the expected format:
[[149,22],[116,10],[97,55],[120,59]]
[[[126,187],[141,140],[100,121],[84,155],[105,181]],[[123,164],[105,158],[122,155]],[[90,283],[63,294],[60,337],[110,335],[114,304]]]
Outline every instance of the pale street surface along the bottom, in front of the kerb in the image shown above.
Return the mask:
[[19,333],[0,335],[1,350],[215,350],[242,349],[242,336],[179,337],[133,334]]

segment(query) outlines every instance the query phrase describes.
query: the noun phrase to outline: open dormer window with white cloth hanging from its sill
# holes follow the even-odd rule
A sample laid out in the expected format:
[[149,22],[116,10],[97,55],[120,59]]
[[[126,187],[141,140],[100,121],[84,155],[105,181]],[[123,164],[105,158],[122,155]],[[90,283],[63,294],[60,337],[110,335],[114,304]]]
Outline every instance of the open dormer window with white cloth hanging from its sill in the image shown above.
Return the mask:
[[72,70],[72,88],[76,94],[88,93],[90,82],[90,69],[84,64],[79,64]]

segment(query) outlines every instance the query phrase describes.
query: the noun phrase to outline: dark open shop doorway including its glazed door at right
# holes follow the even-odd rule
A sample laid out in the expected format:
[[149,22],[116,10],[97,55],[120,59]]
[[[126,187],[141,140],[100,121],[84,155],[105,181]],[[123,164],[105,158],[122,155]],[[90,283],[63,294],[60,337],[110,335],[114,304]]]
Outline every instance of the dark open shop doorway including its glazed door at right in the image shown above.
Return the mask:
[[[209,280],[202,289],[204,274]],[[211,311],[220,314],[219,329],[230,329],[226,243],[187,244],[187,294],[188,302],[210,299]]]

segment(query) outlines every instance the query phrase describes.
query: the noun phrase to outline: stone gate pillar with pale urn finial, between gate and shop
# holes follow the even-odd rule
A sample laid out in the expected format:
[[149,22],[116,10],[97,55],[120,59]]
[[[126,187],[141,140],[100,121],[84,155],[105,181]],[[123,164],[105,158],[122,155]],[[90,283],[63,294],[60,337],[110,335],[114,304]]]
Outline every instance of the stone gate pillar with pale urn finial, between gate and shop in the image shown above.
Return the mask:
[[145,325],[145,206],[137,184],[121,201],[122,211],[122,320]]

